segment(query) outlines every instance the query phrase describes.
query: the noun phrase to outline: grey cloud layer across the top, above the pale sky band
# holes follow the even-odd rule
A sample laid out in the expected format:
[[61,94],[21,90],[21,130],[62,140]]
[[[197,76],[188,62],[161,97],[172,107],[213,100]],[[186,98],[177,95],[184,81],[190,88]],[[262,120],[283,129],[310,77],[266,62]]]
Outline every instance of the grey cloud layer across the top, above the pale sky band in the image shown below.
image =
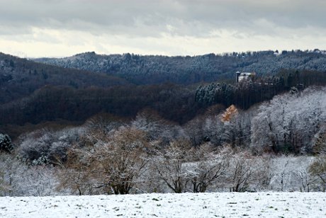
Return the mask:
[[275,33],[259,21],[280,28],[325,28],[325,8],[322,0],[11,0],[1,3],[0,34],[38,27],[130,37],[203,36],[221,28],[264,35]]

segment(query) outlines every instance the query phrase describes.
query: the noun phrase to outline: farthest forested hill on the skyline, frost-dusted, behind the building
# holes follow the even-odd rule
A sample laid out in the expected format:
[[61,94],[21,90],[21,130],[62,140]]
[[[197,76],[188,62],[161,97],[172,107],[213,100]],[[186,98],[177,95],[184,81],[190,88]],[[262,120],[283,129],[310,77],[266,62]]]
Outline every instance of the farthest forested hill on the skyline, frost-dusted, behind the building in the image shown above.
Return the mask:
[[142,56],[129,53],[102,55],[86,52],[73,57],[40,58],[35,61],[122,76],[134,84],[159,84],[167,81],[193,84],[201,81],[233,80],[235,71],[254,71],[259,75],[273,75],[281,69],[326,71],[326,52],[320,50],[233,52],[194,57]]

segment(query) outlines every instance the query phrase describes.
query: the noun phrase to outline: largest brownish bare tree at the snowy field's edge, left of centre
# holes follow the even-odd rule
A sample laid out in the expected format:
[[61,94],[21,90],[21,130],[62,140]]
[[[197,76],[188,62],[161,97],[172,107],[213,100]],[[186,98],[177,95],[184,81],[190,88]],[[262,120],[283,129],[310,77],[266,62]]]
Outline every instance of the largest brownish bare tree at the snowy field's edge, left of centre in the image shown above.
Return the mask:
[[81,178],[81,183],[75,179],[67,182],[79,194],[82,193],[81,185],[85,185],[83,180],[91,180],[94,187],[101,188],[106,193],[128,194],[135,183],[139,182],[137,178],[146,170],[150,154],[146,134],[133,127],[120,127],[102,140],[93,147],[73,150],[77,158],[69,168],[74,169],[73,172]]

